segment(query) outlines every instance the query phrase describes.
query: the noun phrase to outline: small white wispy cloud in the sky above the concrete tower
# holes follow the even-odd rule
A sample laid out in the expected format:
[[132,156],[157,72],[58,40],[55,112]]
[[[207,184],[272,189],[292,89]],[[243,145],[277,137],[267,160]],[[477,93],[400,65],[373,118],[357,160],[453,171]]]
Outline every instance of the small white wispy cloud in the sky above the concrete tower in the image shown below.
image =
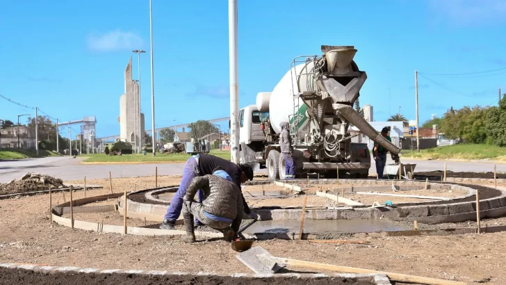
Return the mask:
[[126,31],[110,31],[108,33],[88,35],[88,49],[92,51],[119,51],[140,49],[144,41],[140,35]]

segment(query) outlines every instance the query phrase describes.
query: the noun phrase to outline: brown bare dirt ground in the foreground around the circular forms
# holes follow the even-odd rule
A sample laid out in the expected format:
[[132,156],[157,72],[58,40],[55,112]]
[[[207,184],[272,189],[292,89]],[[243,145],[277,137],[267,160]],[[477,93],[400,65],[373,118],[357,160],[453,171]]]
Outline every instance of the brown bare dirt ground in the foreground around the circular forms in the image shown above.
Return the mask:
[[[179,179],[175,176],[158,177],[158,182],[177,185]],[[83,181],[65,183],[82,184]],[[105,187],[88,190],[87,196],[110,193],[108,179],[95,179],[87,183]],[[113,179],[113,190],[131,190],[134,184],[137,189],[152,188],[154,178]],[[74,197],[83,197],[83,192],[76,191]],[[63,202],[61,198],[60,202]],[[0,261],[3,263],[220,274],[251,272],[236,259],[236,252],[225,241],[197,238],[198,243],[188,245],[177,236],[97,234],[50,225],[49,195],[0,200],[0,220]],[[493,225],[494,222],[503,223],[505,220],[487,220],[487,223]],[[379,238],[364,234],[362,238],[349,239],[370,241],[370,244],[332,245],[271,240],[257,241],[255,245],[277,257],[453,279],[469,284],[506,284],[506,263],[502,262],[506,259],[506,232]],[[304,268],[288,269],[311,272]]]

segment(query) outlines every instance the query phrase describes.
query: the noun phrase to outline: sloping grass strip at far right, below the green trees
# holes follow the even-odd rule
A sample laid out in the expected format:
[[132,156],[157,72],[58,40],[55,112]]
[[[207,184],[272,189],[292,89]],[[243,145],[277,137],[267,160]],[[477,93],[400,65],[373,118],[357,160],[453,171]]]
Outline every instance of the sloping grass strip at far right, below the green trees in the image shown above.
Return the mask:
[[493,159],[506,161],[506,148],[496,145],[473,145],[459,144],[446,147],[434,147],[432,149],[403,150],[402,157],[419,159]]

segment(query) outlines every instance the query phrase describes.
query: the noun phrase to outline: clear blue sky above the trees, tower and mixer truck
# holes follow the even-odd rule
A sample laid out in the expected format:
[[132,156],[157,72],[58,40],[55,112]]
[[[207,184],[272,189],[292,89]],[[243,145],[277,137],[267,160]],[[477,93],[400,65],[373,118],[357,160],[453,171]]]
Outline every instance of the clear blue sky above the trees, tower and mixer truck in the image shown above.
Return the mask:
[[[354,60],[368,74],[360,102],[374,106],[376,121],[399,106],[414,119],[414,70],[506,68],[502,0],[238,2],[240,107],[272,90],[295,56],[320,54],[321,44],[358,49]],[[153,0],[156,127],[229,115],[227,17],[225,0]],[[0,95],[63,121],[95,115],[98,137],[120,133],[123,71],[131,51],[145,49],[141,104],[151,129],[149,1],[3,1],[0,39]],[[450,106],[497,104],[498,88],[506,92],[506,70],[424,76],[421,122]],[[27,112],[35,113],[0,99],[0,118]]]

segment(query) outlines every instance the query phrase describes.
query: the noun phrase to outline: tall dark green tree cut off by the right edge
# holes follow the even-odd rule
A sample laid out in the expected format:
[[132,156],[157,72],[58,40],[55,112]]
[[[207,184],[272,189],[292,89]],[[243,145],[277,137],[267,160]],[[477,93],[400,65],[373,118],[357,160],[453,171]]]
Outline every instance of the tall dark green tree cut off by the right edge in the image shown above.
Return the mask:
[[487,139],[499,147],[506,147],[506,99],[500,99],[498,107],[491,107],[485,123]]

